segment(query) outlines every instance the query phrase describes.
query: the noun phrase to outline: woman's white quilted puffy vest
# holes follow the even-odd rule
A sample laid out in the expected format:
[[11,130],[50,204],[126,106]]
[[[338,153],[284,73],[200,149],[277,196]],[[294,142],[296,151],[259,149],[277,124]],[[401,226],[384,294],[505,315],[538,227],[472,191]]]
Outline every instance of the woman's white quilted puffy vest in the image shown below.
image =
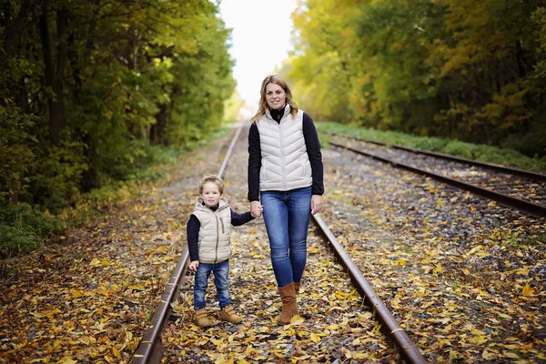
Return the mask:
[[285,107],[280,123],[269,111],[257,124],[261,147],[260,191],[288,191],[313,184],[311,164],[303,137],[303,111],[296,117]]

